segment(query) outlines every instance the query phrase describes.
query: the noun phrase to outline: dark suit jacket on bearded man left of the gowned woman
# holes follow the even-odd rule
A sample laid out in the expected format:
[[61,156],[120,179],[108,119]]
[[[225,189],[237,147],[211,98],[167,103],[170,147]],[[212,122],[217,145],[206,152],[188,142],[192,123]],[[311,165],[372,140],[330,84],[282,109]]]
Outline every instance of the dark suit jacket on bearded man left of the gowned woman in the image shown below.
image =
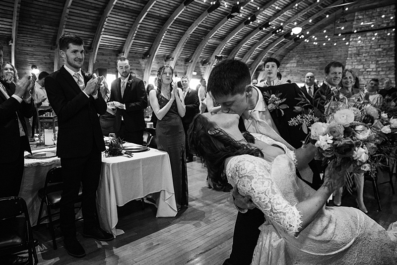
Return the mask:
[[147,95],[143,81],[130,75],[126,84],[123,97],[121,96],[121,79],[112,82],[110,101],[126,104],[126,109],[117,108],[115,131],[120,131],[121,117],[123,115],[126,129],[136,132],[145,128],[143,109],[147,108]]

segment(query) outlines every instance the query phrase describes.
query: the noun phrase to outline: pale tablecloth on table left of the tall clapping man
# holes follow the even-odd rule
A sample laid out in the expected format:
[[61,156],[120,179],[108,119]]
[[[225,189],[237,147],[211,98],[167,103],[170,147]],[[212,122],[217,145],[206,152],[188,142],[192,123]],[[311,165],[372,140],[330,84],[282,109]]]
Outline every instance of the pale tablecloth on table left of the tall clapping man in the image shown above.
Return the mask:
[[[46,148],[40,150],[34,150],[34,153],[43,151],[54,151],[53,148]],[[25,152],[25,156],[28,155]],[[40,210],[40,198],[38,195],[39,189],[44,187],[46,182],[47,172],[61,166],[61,160],[58,157],[46,158],[46,159],[27,159],[25,158],[25,169],[23,171],[21,189],[19,191],[19,197],[22,197],[26,201],[28,207],[29,219],[32,226],[36,225],[37,217],[39,216]],[[47,215],[46,205],[43,206],[44,212],[42,216]]]

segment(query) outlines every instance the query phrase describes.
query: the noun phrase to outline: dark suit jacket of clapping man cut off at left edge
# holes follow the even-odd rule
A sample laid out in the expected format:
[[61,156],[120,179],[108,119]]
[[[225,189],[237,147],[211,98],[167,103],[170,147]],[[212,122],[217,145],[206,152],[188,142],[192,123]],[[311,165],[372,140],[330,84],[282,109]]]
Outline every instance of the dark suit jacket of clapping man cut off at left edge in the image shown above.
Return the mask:
[[[7,90],[10,98],[6,99],[4,94],[0,91],[0,159],[1,163],[9,163],[17,160],[21,145],[24,146],[25,151],[32,152],[28,141],[28,131],[26,128],[25,117],[33,116],[34,106],[33,100],[30,103],[22,103],[13,98],[11,95],[15,92],[15,85],[7,84],[0,80],[1,84]],[[18,115],[18,116],[17,116]],[[23,130],[26,134],[26,141],[21,143],[19,136],[18,119],[22,123]]]

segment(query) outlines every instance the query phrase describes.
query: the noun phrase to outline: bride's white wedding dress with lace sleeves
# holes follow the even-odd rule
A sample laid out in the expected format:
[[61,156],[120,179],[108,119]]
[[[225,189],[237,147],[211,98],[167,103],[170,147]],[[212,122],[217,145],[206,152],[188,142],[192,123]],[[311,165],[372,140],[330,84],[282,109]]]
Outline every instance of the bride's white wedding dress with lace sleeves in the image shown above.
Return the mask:
[[314,221],[294,237],[301,225],[295,205],[315,190],[296,177],[293,151],[266,136],[255,136],[282,147],[285,154],[273,162],[250,155],[236,156],[226,166],[229,183],[237,185],[243,196],[252,196],[266,217],[252,265],[397,264],[397,223],[386,231],[355,208],[324,206]]

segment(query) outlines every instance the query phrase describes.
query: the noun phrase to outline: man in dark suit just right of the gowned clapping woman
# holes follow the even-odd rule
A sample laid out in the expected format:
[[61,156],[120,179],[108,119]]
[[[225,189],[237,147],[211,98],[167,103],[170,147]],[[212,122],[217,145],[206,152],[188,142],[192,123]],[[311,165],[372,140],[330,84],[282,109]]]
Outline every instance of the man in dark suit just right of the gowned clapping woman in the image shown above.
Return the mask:
[[183,76],[181,78],[181,84],[183,88],[183,94],[185,96],[185,108],[186,108],[185,116],[182,117],[182,124],[183,124],[183,129],[185,130],[187,163],[193,161],[193,154],[190,152],[189,143],[188,143],[188,129],[190,124],[192,123],[193,117],[200,112],[199,94],[197,90],[190,88],[189,82],[190,80],[188,76]]

